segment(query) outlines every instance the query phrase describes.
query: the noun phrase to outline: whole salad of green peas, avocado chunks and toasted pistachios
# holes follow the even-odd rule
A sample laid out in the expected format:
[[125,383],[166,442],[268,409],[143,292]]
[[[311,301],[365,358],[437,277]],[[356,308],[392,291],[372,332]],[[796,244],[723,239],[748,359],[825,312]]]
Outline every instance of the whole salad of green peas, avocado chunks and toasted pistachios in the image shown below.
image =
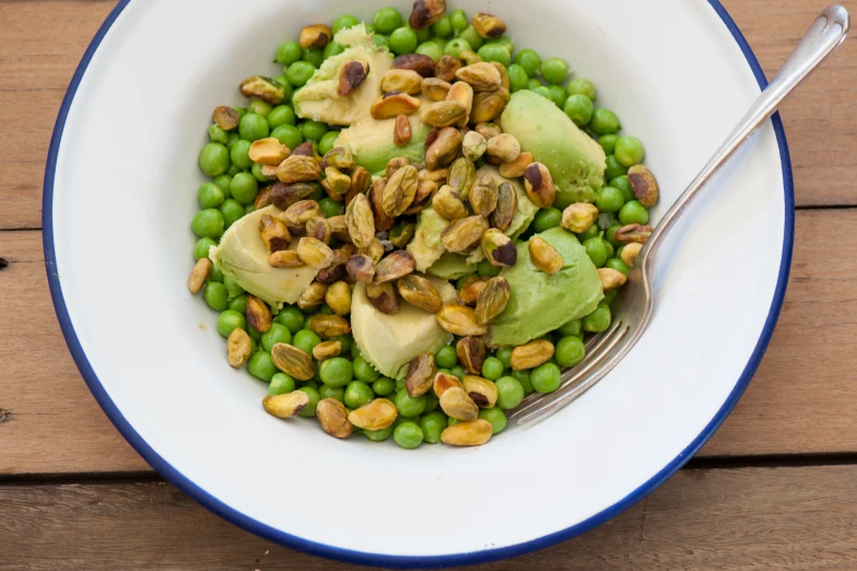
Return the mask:
[[313,24],[213,112],[189,288],[263,409],[477,446],[604,331],[651,233],[644,149],[497,15]]

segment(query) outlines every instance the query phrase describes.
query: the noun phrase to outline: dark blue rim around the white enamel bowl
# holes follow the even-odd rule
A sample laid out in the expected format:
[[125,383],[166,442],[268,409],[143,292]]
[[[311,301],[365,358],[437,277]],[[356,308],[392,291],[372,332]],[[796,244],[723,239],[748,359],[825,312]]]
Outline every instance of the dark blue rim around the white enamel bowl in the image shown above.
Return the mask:
[[[759,82],[760,89],[764,89],[767,85],[767,80],[765,79],[765,74],[762,71],[762,67],[759,65],[759,60],[755,58],[752,49],[750,49],[750,45],[747,43],[743,34],[736,25],[732,18],[726,11],[726,9],[720,4],[718,0],[707,0],[708,3],[712,5],[714,11],[717,13],[718,16],[723,20],[726,27],[735,37],[735,40],[738,43],[738,46],[741,48],[744,57],[747,58],[747,62],[750,66],[753,74]],[[59,115],[57,117],[57,123],[54,127],[54,135],[50,140],[50,150],[48,152],[48,160],[47,166],[45,171],[45,186],[44,186],[44,196],[43,196],[43,203],[42,203],[42,224],[43,224],[43,241],[45,247],[45,265],[48,275],[48,284],[50,287],[50,295],[54,300],[54,308],[57,313],[57,318],[59,319],[60,327],[62,328],[62,334],[66,337],[66,342],[69,346],[71,354],[74,359],[74,362],[80,369],[83,378],[86,381],[86,385],[89,385],[90,391],[95,396],[95,399],[101,405],[102,409],[104,409],[107,417],[110,421],[119,429],[119,432],[128,440],[131,446],[155,469],[157,470],[166,480],[171,483],[179,488],[181,491],[193,498],[198,503],[203,505],[204,508],[211,510],[212,512],[216,513],[224,520],[253,533],[265,537],[271,541],[275,541],[278,544],[297,549],[300,551],[304,551],[307,553],[312,553],[315,556],[326,557],[329,559],[334,559],[339,561],[345,561],[350,563],[360,563],[366,566],[380,566],[387,568],[397,568],[397,569],[412,569],[412,568],[444,568],[444,567],[457,567],[457,566],[466,566],[466,564],[473,564],[473,563],[485,563],[490,561],[497,561],[501,559],[506,559],[510,557],[520,556],[524,553],[529,553],[531,551],[536,551],[539,549],[544,549],[552,545],[555,545],[560,541],[571,539],[578,535],[582,535],[604,522],[615,517],[623,511],[627,510],[632,505],[638,503],[644,498],[646,498],[649,493],[651,493],[656,488],[662,485],[667,479],[669,479],[676,471],[678,471],[688,461],[693,457],[693,455],[708,441],[708,439],[716,432],[723,421],[729,416],[729,412],[735,407],[738,399],[743,394],[747,386],[750,384],[750,380],[752,378],[753,374],[755,373],[756,368],[759,366],[759,362],[762,359],[765,350],[767,349],[767,345],[771,340],[771,336],[774,333],[774,326],[776,325],[777,318],[779,317],[779,311],[783,307],[783,300],[786,294],[786,284],[788,283],[788,275],[789,269],[791,267],[791,250],[794,246],[794,235],[795,235],[795,187],[794,187],[794,179],[791,175],[791,160],[789,158],[788,152],[788,143],[786,142],[786,133],[783,129],[783,121],[779,118],[779,114],[776,114],[772,117],[772,123],[774,126],[774,131],[776,133],[777,144],[779,147],[779,160],[783,168],[783,182],[784,182],[784,193],[785,193],[785,206],[786,206],[786,213],[785,213],[785,225],[784,225],[784,237],[783,237],[783,259],[782,265],[779,267],[779,275],[777,277],[777,286],[774,292],[774,300],[771,304],[771,310],[767,314],[767,318],[765,321],[765,326],[762,329],[762,335],[756,342],[755,349],[750,357],[750,361],[747,363],[740,378],[738,380],[735,388],[729,394],[729,397],[724,403],[723,407],[717,411],[715,417],[712,421],[705,427],[705,429],[693,440],[693,442],[684,448],[681,454],[679,454],[672,462],[670,462],[667,466],[665,466],[660,471],[658,471],[653,478],[648,481],[639,486],[636,490],[631,492],[621,501],[617,502],[615,504],[607,508],[606,510],[592,515],[591,517],[573,525],[566,529],[561,532],[555,532],[553,534],[540,537],[538,539],[532,539],[530,541],[526,541],[523,544],[517,544],[508,547],[502,547],[497,549],[486,549],[483,551],[473,551],[468,553],[455,553],[449,556],[430,556],[430,557],[411,557],[411,556],[389,556],[383,553],[367,553],[362,551],[354,551],[350,549],[342,549],[325,544],[319,544],[316,541],[309,541],[303,539],[301,537],[296,537],[294,535],[287,534],[281,529],[277,529],[269,525],[266,525],[261,522],[258,522],[237,510],[226,505],[218,498],[214,498],[209,492],[193,483],[189,478],[185,475],[176,470],[173,466],[171,466],[164,458],[162,458],[149,444],[137,433],[137,431],[131,427],[131,424],[125,419],[121,411],[118,407],[114,404],[110,397],[107,395],[104,386],[102,385],[98,377],[95,375],[95,371],[93,371],[92,365],[90,364],[89,360],[86,359],[86,354],[83,352],[83,348],[80,345],[78,339],[78,335],[74,331],[74,327],[71,324],[71,319],[69,318],[68,308],[66,307],[66,300],[62,296],[62,288],[60,286],[60,280],[57,276],[55,270],[56,268],[56,252],[54,248],[54,183],[55,183],[55,175],[57,168],[57,158],[59,154],[59,147],[60,141],[62,139],[62,132],[66,126],[66,119],[68,118],[69,109],[71,108],[71,104],[74,100],[74,95],[78,92],[78,88],[80,86],[81,79],[83,78],[84,73],[86,72],[86,68],[92,60],[92,57],[95,55],[98,46],[101,45],[104,36],[110,30],[110,26],[116,22],[116,19],[119,14],[125,10],[125,8],[131,2],[131,0],[120,0],[116,8],[113,9],[110,14],[104,21],[101,28],[98,30],[97,34],[93,38],[90,46],[86,48],[86,51],[81,59],[80,65],[78,66],[78,70],[74,72],[74,77],[71,80],[71,84],[66,93],[66,97],[62,101],[62,106],[60,107]]]

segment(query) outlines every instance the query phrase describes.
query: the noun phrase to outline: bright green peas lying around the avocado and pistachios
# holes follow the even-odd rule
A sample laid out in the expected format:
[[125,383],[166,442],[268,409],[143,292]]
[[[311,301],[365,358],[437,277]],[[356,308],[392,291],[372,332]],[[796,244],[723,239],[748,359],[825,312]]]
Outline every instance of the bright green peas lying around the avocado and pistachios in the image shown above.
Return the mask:
[[[342,15],[333,21],[331,31],[336,34],[357,24],[360,20],[356,16]],[[412,30],[395,8],[378,10],[373,21],[364,24],[367,32],[374,33],[376,45],[388,48],[397,56],[416,53],[438,60],[444,55],[459,57],[463,51],[476,51],[482,60],[497,61],[507,68],[510,92],[530,90],[539,93],[562,108],[575,125],[596,139],[607,154],[608,184],[599,190],[596,200],[602,215],[577,237],[596,267],[629,273],[630,268],[620,257],[623,245],[615,240],[615,231],[625,224],[648,222],[648,211],[635,199],[626,176],[630,167],[643,161],[645,151],[635,137],[619,135],[621,125],[612,110],[595,107],[596,89],[589,80],[568,81],[570,70],[564,60],[555,57],[542,60],[532,49],[515,53],[514,43],[508,37],[483,39],[462,10],[450,12],[424,31]],[[274,56],[275,63],[282,66],[282,73],[274,81],[283,86],[285,100],[275,106],[250,100],[246,107],[235,109],[240,117],[235,129],[225,131],[214,124],[208,128],[210,141],[200,152],[199,167],[210,180],[197,191],[200,211],[191,221],[191,230],[198,238],[193,248],[195,259],[208,257],[210,247],[216,245],[223,233],[255,210],[259,185],[268,179],[262,176],[260,165],[249,159],[254,141],[274,137],[290,149],[309,141],[320,155],[333,148],[339,128],[298,119],[291,101],[294,92],[309,81],[327,58],[343,50],[344,47],[336,42],[330,42],[325,48],[309,49],[302,48],[297,42],[285,42],[279,46]],[[341,202],[325,197],[321,186],[315,186],[316,191],[308,198],[319,203],[327,218],[344,213]],[[561,221],[562,211],[559,208],[541,209],[528,232],[519,240],[560,226]],[[483,261],[476,270],[478,276],[494,277],[501,268]],[[466,279],[458,281],[459,288]],[[554,354],[550,361],[532,370],[512,370],[510,348],[490,352],[481,373],[496,385],[497,404],[492,409],[482,409],[479,416],[491,423],[495,435],[506,428],[505,410],[517,407],[526,395],[533,392],[556,391],[562,369],[583,361],[586,354],[585,336],[603,331],[610,326],[610,303],[615,293],[615,290],[608,292],[591,314],[545,335],[543,338],[554,345]],[[312,354],[321,339],[309,329],[308,317],[316,312],[332,313],[326,304],[308,310],[301,310],[296,305],[285,306],[277,314],[268,331],[257,331],[246,319],[247,293],[216,266],[209,273],[203,298],[212,310],[220,312],[218,331],[221,336],[227,338],[236,328],[249,334],[253,352],[247,370],[256,378],[269,384],[269,395],[293,391],[306,393],[309,405],[300,412],[301,417],[314,417],[318,403],[324,398],[334,398],[350,410],[378,397],[389,398],[399,411],[396,422],[383,430],[355,429],[355,432],[375,442],[392,438],[407,450],[424,442],[439,442],[443,430],[457,422],[439,409],[434,392],[411,397],[402,382],[383,376],[363,358],[351,336],[336,338],[342,343],[342,354],[348,357],[336,357],[317,363],[316,376],[308,382],[298,382],[279,371],[271,358],[272,347],[281,342],[291,343]],[[455,342],[438,350],[435,362],[439,372],[453,374],[459,380],[466,375],[458,362]]]

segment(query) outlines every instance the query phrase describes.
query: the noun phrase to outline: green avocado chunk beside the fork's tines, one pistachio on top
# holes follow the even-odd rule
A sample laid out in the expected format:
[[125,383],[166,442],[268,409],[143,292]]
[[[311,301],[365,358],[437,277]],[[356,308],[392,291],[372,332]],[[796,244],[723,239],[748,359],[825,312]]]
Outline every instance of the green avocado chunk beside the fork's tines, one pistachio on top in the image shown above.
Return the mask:
[[492,347],[517,347],[550,333],[598,307],[604,298],[598,269],[577,237],[554,228],[537,234],[556,248],[563,268],[545,273],[530,260],[529,244],[518,246],[518,261],[501,276],[509,283],[509,301],[489,328]]

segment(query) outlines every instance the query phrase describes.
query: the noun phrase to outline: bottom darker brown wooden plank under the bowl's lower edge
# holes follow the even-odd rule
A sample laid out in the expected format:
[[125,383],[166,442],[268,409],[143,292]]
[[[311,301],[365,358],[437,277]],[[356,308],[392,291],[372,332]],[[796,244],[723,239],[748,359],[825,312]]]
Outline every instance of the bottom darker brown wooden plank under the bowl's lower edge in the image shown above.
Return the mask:
[[[854,569],[855,482],[855,466],[682,470],[579,538],[468,569]],[[0,569],[360,569],[247,534],[166,483],[11,486],[0,504]]]

